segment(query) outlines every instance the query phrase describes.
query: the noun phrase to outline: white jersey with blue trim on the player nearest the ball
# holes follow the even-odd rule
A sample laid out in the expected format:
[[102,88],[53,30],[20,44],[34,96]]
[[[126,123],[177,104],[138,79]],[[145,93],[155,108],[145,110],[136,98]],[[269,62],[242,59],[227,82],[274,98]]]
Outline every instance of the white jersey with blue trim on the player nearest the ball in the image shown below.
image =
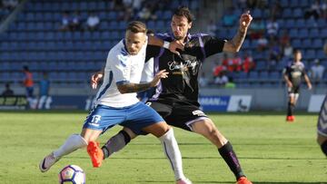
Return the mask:
[[146,45],[147,41],[136,55],[130,55],[127,52],[124,40],[114,45],[108,53],[104,68],[104,82],[97,92],[95,105],[121,108],[139,102],[136,92],[122,94],[116,84],[140,83],[144,70]]

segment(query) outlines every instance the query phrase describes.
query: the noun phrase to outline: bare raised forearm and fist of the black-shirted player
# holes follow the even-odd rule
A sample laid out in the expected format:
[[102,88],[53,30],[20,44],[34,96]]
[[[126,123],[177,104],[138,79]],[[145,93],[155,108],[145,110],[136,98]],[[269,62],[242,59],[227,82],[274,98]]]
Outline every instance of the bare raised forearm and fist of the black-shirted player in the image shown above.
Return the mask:
[[240,27],[237,31],[237,34],[233,37],[232,40],[227,41],[223,45],[223,52],[236,53],[236,52],[240,51],[241,46],[242,46],[243,41],[246,36],[246,32],[247,32],[252,20],[253,20],[253,17],[250,15],[250,11],[247,11],[247,13],[241,15]]

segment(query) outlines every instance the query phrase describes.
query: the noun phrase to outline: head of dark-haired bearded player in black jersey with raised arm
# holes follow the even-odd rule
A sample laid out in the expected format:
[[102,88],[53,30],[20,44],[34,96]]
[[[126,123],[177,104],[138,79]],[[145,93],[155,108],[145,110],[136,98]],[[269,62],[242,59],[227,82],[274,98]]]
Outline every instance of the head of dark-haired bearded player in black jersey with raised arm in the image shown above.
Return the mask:
[[193,15],[188,7],[181,6],[173,12],[172,31],[173,37],[177,40],[183,40],[192,27]]

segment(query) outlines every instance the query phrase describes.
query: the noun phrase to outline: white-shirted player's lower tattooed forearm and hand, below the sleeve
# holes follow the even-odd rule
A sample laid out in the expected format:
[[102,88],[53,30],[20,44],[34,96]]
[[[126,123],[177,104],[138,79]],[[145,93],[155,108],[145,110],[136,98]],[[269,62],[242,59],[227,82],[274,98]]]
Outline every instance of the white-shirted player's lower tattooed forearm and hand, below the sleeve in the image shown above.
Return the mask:
[[123,82],[117,84],[117,88],[119,92],[121,92],[122,94],[130,93],[130,92],[142,92],[148,90],[149,88],[157,86],[161,79],[167,77],[168,77],[168,73],[165,72],[165,70],[162,70],[159,73],[155,74],[154,80],[152,82],[145,82],[145,83]]

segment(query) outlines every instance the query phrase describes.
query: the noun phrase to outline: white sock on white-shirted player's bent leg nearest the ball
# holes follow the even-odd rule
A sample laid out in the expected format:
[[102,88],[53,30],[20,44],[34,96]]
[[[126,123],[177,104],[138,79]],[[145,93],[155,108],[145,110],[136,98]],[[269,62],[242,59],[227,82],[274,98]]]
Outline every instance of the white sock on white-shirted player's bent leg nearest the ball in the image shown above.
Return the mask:
[[54,150],[54,158],[61,158],[74,150],[81,149],[87,146],[87,141],[79,134],[71,135],[64,144],[58,149]]

